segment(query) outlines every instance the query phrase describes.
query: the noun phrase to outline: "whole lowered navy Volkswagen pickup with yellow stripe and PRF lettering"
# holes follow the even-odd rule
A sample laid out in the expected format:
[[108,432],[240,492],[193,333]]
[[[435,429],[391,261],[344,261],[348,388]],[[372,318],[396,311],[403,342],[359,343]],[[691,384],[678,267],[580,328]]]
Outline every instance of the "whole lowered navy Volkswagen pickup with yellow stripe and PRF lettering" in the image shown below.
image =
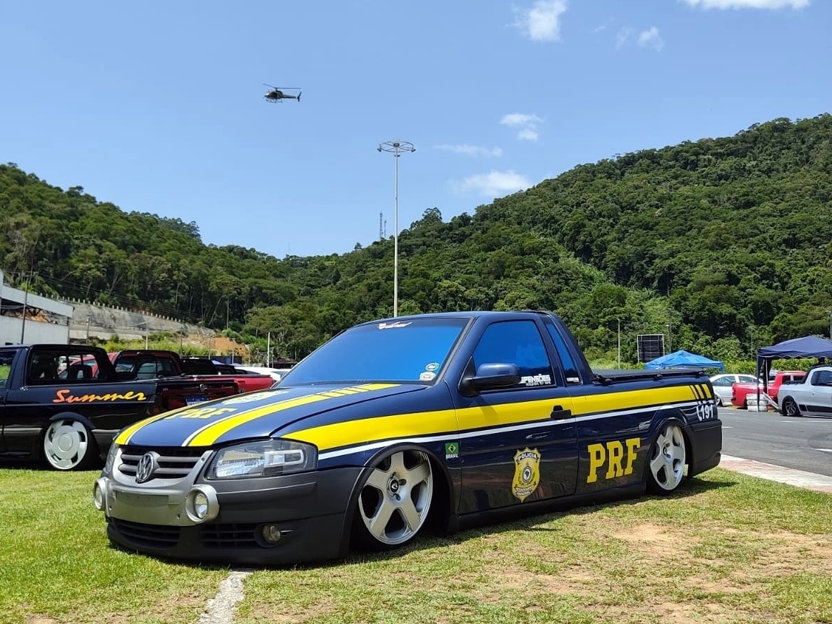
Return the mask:
[[284,564],[512,508],[670,493],[720,461],[696,369],[595,374],[547,312],[355,326],[275,388],[148,418],[94,488],[112,542]]

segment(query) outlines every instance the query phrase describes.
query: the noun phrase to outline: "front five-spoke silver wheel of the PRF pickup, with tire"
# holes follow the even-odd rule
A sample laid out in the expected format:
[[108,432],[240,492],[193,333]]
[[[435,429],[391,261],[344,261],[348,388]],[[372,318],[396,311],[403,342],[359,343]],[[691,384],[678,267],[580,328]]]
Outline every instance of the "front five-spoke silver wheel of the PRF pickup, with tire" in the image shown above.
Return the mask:
[[408,449],[385,455],[359,490],[354,541],[373,551],[404,546],[424,527],[433,493],[427,453]]

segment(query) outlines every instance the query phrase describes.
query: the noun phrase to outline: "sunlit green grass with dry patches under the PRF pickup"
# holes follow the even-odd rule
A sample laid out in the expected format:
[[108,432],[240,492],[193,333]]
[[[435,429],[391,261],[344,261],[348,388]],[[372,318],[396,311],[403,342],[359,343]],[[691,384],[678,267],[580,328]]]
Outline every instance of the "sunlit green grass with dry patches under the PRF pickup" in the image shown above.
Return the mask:
[[[97,473],[0,468],[0,624],[192,622],[229,570],[121,552]],[[642,497],[255,570],[255,622],[832,622],[832,496],[717,468]]]

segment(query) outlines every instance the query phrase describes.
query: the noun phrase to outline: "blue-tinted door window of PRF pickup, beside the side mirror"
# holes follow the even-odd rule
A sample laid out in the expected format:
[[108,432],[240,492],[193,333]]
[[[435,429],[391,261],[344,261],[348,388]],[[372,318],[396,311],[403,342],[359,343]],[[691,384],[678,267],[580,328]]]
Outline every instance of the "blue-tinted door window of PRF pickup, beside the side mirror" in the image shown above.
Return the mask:
[[537,325],[528,320],[510,320],[488,326],[473,352],[474,366],[517,364],[520,384],[554,385],[552,364]]

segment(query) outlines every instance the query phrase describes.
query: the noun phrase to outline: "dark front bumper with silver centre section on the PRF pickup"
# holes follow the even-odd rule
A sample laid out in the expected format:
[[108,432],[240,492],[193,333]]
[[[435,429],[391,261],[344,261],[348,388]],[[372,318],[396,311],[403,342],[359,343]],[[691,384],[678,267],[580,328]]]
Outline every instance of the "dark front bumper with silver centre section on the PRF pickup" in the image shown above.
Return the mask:
[[[195,470],[195,473],[201,471]],[[160,487],[103,474],[96,482],[111,542],[145,554],[198,562],[285,565],[344,557],[349,502],[362,468],[281,477],[186,478]],[[195,488],[211,494],[210,520],[188,513]],[[271,537],[271,543],[264,536]]]

